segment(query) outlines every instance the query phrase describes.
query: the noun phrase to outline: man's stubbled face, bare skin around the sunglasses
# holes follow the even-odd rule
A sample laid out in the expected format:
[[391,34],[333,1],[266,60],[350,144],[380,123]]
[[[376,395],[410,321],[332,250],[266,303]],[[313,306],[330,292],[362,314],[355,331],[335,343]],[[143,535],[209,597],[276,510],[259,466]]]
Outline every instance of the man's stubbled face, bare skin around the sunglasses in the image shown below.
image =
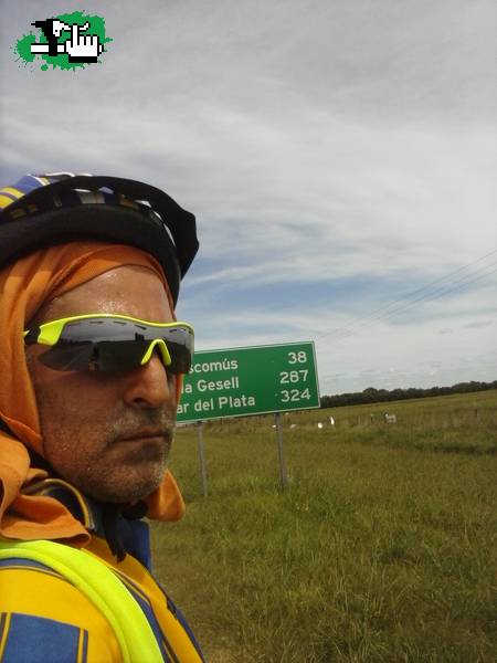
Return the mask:
[[[33,322],[87,313],[173,319],[159,277],[146,267],[126,265],[53,299]],[[145,366],[105,373],[52,370],[36,359],[46,349],[27,348],[46,461],[62,478],[97,499],[128,503],[152,493],[163,477],[177,410],[176,379],[158,351]],[[121,439],[144,429],[160,433]]]

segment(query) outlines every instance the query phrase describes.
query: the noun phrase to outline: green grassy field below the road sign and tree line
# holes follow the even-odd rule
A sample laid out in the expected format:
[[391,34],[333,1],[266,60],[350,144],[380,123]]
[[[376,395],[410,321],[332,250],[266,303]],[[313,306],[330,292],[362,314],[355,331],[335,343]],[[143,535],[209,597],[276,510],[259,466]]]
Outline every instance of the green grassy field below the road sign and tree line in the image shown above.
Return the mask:
[[177,433],[156,572],[208,660],[497,660],[497,391],[284,417],[283,493],[272,423],[205,424],[207,498]]

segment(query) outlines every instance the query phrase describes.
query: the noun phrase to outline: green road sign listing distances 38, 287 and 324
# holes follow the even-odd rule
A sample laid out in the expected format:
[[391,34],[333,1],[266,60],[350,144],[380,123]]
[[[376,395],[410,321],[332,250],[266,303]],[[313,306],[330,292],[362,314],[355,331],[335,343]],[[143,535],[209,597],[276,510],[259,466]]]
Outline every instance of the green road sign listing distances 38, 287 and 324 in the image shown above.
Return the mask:
[[184,377],[178,421],[319,408],[314,343],[200,350]]

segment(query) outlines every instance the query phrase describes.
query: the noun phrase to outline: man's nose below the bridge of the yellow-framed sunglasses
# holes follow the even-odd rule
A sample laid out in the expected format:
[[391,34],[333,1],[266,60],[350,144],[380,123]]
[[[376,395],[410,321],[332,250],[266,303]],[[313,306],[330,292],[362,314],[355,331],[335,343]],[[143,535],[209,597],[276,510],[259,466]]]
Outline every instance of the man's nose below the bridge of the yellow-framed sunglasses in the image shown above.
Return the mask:
[[176,379],[168,376],[160,350],[157,348],[149,361],[135,369],[129,376],[125,391],[128,404],[162,408],[176,401]]

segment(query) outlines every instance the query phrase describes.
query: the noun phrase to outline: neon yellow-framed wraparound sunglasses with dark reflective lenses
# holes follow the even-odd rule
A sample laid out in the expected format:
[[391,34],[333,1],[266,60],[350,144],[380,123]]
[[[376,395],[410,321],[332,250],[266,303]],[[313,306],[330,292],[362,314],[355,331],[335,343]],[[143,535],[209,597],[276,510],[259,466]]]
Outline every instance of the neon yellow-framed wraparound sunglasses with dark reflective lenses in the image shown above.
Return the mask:
[[25,345],[50,346],[39,359],[54,370],[129,370],[147,364],[158,348],[169,372],[187,373],[193,341],[188,323],[150,323],[113,313],[75,315],[24,332]]

